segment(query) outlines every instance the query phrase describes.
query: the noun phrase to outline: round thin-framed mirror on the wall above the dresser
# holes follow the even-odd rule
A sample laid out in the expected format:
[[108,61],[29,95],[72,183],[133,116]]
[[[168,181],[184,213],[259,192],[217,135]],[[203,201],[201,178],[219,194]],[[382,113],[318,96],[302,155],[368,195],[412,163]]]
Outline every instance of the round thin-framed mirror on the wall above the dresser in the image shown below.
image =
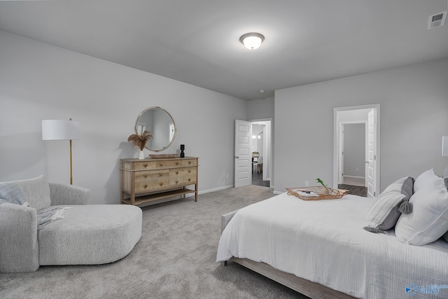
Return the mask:
[[146,142],[150,151],[163,151],[172,145],[176,137],[176,125],[171,114],[160,107],[150,107],[140,113],[135,123],[135,132],[151,132],[153,139]]

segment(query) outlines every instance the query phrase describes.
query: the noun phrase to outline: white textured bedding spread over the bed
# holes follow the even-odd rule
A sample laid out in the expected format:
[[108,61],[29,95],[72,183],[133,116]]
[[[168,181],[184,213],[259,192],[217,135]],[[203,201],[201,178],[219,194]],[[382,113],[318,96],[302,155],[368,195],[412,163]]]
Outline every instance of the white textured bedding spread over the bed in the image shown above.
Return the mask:
[[437,298],[448,298],[448,243],[412,246],[393,230],[367,232],[373,201],[355,195],[304,201],[283,193],[251,204],[228,223],[216,260],[267,263],[357,298],[435,298],[414,286],[442,286]]

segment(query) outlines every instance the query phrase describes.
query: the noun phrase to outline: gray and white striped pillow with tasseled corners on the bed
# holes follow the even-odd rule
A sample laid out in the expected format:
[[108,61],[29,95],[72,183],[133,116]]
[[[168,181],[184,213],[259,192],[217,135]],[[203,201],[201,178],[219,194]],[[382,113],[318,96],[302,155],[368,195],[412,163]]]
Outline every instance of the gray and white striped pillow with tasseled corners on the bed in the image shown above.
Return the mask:
[[391,183],[375,200],[367,212],[367,226],[370,232],[381,232],[395,226],[401,215],[400,205],[412,196],[414,179],[406,176]]

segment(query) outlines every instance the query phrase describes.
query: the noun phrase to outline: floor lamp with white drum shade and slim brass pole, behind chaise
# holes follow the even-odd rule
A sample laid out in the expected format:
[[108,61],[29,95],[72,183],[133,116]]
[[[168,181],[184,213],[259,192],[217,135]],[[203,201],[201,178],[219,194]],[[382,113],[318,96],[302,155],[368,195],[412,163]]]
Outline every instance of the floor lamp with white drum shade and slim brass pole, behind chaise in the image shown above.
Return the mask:
[[79,139],[79,123],[70,120],[42,120],[42,140],[70,140],[70,184],[73,185],[71,171],[71,141]]

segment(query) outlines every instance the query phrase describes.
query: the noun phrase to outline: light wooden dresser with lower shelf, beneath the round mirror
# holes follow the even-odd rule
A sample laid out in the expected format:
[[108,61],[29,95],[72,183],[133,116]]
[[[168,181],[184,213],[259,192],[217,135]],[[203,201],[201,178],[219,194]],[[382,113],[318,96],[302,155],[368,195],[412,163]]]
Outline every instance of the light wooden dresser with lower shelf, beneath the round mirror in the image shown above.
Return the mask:
[[121,203],[137,205],[188,193],[195,193],[197,202],[198,159],[121,159]]

